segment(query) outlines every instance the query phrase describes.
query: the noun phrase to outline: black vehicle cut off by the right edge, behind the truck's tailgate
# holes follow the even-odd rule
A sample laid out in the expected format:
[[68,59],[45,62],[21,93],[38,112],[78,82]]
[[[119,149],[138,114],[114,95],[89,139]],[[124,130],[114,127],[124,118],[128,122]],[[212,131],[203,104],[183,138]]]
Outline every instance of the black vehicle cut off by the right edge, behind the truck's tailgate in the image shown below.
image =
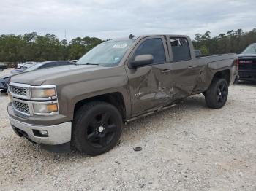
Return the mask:
[[238,55],[238,76],[241,80],[256,81],[256,43],[246,47],[244,52]]

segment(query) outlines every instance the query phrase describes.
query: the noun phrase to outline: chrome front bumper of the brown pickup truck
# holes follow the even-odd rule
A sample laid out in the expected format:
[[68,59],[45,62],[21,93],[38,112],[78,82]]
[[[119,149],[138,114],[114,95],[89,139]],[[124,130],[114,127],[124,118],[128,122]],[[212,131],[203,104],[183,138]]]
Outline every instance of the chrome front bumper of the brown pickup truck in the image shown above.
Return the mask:
[[[29,123],[20,122],[18,120],[9,117],[10,124],[12,128],[18,128],[23,130],[31,141],[34,141],[37,144],[64,144],[71,140],[71,122],[64,122],[58,125],[51,126],[41,126],[41,125],[31,125]],[[48,136],[35,136],[33,130],[47,130]],[[17,132],[15,132],[17,133]]]

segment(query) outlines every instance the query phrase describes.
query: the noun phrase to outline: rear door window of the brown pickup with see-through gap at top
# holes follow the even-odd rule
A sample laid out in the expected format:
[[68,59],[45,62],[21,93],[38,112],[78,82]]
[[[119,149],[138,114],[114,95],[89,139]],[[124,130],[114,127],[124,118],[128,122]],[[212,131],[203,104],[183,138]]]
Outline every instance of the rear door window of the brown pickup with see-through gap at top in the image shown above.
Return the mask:
[[191,58],[189,42],[186,38],[170,37],[170,45],[173,51],[173,61],[187,61]]

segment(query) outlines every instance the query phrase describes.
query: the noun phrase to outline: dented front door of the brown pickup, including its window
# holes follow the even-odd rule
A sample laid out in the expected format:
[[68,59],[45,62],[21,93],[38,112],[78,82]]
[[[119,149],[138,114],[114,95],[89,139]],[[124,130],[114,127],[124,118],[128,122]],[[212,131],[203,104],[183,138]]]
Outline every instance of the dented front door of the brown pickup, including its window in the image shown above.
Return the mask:
[[129,69],[126,66],[131,95],[132,116],[165,106],[170,100],[170,63],[163,36],[141,39],[129,55],[128,62],[137,55],[153,55],[153,64]]

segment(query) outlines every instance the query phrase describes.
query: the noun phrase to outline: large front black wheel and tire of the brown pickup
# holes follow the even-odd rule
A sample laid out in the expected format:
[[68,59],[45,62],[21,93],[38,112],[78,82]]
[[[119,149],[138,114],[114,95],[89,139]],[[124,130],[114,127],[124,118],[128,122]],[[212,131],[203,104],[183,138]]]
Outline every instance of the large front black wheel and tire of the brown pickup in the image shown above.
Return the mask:
[[116,146],[121,136],[122,117],[115,106],[103,101],[85,104],[76,112],[72,144],[87,155],[100,155]]

